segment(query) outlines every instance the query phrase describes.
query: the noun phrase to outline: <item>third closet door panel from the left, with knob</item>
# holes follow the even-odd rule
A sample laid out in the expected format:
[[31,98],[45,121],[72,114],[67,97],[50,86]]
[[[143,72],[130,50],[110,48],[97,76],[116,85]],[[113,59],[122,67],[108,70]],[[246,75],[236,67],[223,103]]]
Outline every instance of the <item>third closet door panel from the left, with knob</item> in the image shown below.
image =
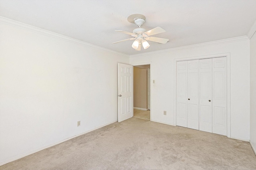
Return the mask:
[[212,59],[199,60],[199,130],[212,133]]

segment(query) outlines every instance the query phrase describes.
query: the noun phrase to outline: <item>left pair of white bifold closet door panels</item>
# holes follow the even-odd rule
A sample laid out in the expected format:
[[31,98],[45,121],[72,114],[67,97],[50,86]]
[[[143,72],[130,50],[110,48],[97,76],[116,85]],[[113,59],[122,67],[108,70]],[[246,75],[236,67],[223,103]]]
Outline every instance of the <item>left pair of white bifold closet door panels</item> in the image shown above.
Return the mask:
[[177,62],[177,125],[199,129],[199,60]]

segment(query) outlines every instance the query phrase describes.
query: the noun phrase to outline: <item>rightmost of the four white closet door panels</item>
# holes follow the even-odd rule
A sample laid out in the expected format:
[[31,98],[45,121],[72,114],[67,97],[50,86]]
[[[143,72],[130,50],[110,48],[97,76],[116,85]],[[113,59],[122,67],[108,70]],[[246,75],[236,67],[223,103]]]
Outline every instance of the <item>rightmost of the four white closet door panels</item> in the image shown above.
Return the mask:
[[227,133],[226,57],[212,59],[212,133]]

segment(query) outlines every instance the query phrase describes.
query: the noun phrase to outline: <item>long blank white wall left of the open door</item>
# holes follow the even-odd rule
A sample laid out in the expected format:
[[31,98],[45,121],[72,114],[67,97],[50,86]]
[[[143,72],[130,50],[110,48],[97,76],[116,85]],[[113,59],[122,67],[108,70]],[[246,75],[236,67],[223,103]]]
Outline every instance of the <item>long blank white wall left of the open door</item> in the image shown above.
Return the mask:
[[129,57],[3,23],[0,37],[0,164],[117,121]]

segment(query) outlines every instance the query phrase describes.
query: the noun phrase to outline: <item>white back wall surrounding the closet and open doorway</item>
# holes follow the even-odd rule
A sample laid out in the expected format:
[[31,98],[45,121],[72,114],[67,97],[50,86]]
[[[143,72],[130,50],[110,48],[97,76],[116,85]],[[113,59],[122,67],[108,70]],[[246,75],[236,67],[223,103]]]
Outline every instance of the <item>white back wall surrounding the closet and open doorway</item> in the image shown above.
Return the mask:
[[[222,43],[221,43],[222,42]],[[148,63],[151,69],[151,119],[174,125],[174,59],[230,53],[231,137],[250,139],[250,41],[246,37],[144,53],[130,64]],[[167,111],[167,115],[163,111]]]

